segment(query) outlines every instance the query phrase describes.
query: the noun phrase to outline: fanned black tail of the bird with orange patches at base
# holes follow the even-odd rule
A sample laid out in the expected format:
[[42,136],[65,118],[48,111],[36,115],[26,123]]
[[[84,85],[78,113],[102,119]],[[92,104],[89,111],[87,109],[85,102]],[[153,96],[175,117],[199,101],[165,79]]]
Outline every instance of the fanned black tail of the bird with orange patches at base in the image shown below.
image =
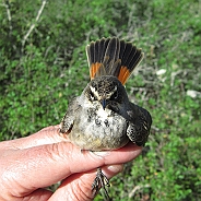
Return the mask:
[[102,38],[86,46],[91,80],[114,75],[125,84],[143,59],[143,52],[131,43],[117,37]]

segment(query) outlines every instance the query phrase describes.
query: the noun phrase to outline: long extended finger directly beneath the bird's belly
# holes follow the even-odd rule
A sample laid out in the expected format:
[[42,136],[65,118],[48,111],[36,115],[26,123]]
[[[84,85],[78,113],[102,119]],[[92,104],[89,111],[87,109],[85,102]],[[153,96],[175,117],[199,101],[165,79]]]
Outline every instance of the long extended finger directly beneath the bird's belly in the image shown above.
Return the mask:
[[81,152],[70,142],[60,142],[10,151],[5,157],[1,155],[3,164],[0,174],[3,175],[5,189],[12,182],[13,189],[17,189],[20,184],[21,187],[33,191],[56,184],[75,173],[126,163],[140,153],[141,147],[128,145],[117,151],[105,152],[100,156],[88,151]]

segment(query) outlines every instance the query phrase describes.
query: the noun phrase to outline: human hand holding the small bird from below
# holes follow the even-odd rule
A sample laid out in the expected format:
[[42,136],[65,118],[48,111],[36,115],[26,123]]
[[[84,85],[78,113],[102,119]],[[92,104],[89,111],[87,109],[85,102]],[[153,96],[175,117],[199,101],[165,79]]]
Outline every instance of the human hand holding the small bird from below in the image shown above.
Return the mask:
[[[111,178],[142,151],[129,143],[116,151],[81,152],[58,129],[51,126],[26,138],[0,142],[1,201],[93,200],[96,168],[102,167]],[[45,189],[61,180],[55,192]]]

